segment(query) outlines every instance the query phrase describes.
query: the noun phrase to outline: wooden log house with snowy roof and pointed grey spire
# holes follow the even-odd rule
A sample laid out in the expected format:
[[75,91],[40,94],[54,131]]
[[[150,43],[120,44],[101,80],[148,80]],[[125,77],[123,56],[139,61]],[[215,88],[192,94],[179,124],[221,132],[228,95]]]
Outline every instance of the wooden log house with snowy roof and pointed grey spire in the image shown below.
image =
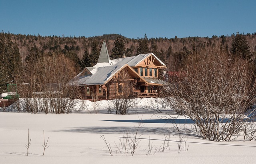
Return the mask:
[[103,42],[97,64],[84,68],[70,85],[78,85],[80,98],[87,100],[114,99],[128,84],[132,84],[134,98],[157,98],[165,84],[158,79],[160,69],[166,65],[153,53],[110,60]]

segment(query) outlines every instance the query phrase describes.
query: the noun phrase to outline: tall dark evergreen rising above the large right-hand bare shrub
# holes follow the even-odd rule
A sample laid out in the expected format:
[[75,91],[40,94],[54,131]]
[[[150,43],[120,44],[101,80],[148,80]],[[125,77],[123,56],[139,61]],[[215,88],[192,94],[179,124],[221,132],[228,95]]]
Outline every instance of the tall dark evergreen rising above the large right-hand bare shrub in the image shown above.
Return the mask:
[[236,36],[232,39],[230,52],[236,57],[250,59],[250,45],[248,44],[244,34],[236,32]]

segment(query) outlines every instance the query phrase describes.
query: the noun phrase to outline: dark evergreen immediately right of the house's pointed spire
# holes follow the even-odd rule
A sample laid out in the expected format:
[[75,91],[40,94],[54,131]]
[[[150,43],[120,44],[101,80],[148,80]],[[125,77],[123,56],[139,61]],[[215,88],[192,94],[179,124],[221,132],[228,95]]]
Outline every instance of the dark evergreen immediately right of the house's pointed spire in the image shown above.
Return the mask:
[[110,58],[111,59],[122,58],[124,52],[125,52],[124,41],[120,37],[118,37],[114,41],[114,48],[112,49],[112,54],[110,55]]

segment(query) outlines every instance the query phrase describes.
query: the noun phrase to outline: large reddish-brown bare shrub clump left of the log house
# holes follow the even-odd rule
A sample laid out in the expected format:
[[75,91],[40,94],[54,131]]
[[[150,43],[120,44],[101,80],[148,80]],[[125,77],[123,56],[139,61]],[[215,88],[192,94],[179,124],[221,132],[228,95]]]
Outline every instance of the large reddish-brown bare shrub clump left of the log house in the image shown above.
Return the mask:
[[[48,114],[69,113],[78,87],[70,80],[76,75],[74,63],[64,55],[44,54],[20,70],[19,94],[28,98],[27,111]],[[40,99],[39,99],[40,98]]]

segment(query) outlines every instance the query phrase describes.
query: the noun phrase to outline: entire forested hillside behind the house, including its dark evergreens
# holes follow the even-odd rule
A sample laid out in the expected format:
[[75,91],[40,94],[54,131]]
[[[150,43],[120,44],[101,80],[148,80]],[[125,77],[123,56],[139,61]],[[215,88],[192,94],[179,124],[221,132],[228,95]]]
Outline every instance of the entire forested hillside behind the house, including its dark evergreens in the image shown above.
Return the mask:
[[[239,36],[239,37],[238,37]],[[236,41],[237,39],[237,41]],[[119,34],[105,34],[86,38],[84,36],[41,36],[0,33],[1,80],[12,82],[18,66],[34,63],[40,56],[63,54],[76,65],[79,72],[85,66],[96,64],[100,46],[106,41],[110,58],[121,58],[153,52],[168,70],[179,71],[186,57],[200,50],[220,47],[230,55],[240,47],[246,54],[239,54],[250,60],[256,54],[256,32],[253,34],[232,34],[232,36],[187,37],[187,38],[126,38]],[[244,43],[244,44],[243,44]],[[239,52],[240,53],[240,52]],[[15,60],[14,60],[15,59]],[[20,64],[23,63],[23,64]],[[2,83],[2,82],[1,82]],[[2,83],[3,84],[3,83]]]

